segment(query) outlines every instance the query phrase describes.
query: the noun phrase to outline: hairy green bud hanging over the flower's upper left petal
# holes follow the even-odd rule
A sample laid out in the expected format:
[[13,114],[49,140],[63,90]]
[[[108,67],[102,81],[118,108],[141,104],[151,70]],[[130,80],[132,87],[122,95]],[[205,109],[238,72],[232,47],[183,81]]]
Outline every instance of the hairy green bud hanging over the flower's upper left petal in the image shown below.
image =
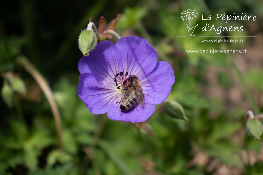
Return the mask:
[[79,35],[79,50],[84,56],[89,56],[89,52],[95,49],[97,37],[93,30],[84,30]]

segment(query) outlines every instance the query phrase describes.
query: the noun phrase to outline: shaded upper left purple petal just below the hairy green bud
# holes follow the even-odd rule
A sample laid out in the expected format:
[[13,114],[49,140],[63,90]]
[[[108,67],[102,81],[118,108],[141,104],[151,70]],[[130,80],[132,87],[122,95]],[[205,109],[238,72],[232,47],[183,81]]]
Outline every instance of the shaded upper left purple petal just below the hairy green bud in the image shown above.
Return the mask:
[[121,71],[120,68],[122,68],[120,53],[110,41],[98,43],[89,56],[83,56],[78,63],[81,74],[86,72],[94,73],[112,82],[115,74]]

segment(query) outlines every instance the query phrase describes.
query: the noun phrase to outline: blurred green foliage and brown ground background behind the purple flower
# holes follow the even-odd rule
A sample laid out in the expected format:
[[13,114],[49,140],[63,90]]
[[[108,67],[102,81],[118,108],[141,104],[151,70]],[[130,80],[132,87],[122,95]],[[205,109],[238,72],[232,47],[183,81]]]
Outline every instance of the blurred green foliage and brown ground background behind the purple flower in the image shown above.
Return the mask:
[[[184,10],[202,15],[256,15],[241,26],[242,43],[202,43],[187,35]],[[247,110],[263,112],[263,2],[197,1],[1,1],[0,2],[0,174],[263,174],[262,143],[247,136]],[[93,115],[77,97],[77,41],[89,18],[97,25],[119,13],[116,32],[147,39],[174,68],[168,99],[190,119],[170,118],[163,104],[144,123]],[[195,29],[195,35],[203,35]],[[210,34],[209,34],[210,35]],[[239,35],[224,32],[222,36]],[[116,42],[116,38],[111,39]],[[244,50],[246,54],[188,54],[186,50]],[[62,123],[62,144],[47,97],[19,60],[26,58],[52,90]],[[155,137],[151,137],[151,136]]]

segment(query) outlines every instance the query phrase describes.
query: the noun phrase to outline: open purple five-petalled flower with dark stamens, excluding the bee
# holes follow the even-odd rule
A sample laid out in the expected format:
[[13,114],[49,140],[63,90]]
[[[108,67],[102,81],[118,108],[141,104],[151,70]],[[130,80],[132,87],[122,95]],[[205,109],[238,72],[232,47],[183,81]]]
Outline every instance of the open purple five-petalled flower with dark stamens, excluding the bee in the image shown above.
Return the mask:
[[[153,47],[143,38],[129,36],[114,45],[98,43],[88,57],[79,63],[78,96],[93,114],[108,112],[109,119],[143,122],[169,96],[174,84],[173,68],[166,61],[157,62]],[[139,79],[144,104],[137,101],[127,111],[121,111],[123,96],[133,79]]]

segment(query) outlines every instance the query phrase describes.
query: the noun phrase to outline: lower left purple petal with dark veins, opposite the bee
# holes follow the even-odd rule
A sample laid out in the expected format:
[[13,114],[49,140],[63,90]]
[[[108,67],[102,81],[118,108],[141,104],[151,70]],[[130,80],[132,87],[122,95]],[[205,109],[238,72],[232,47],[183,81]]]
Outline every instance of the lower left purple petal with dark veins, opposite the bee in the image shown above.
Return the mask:
[[114,85],[96,74],[83,73],[79,76],[78,96],[91,113],[104,114],[116,98],[121,98]]

